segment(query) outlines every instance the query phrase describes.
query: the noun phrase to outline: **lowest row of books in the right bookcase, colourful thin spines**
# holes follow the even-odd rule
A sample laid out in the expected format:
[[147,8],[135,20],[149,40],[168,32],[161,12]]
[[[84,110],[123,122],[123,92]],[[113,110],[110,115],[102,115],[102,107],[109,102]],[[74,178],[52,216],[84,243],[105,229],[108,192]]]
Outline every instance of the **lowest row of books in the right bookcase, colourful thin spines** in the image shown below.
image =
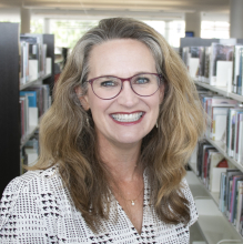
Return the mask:
[[243,235],[243,173],[206,140],[195,150],[196,175],[211,193],[219,194],[219,210]]

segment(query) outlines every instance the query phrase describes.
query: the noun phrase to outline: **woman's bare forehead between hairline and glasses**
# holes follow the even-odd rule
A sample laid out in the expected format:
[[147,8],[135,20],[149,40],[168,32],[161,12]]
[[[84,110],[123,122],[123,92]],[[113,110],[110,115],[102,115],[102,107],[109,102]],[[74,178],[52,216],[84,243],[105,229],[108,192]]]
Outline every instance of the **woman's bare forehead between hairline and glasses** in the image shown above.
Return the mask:
[[155,72],[155,61],[149,48],[132,39],[118,39],[95,45],[89,58],[90,72],[95,75],[131,70]]

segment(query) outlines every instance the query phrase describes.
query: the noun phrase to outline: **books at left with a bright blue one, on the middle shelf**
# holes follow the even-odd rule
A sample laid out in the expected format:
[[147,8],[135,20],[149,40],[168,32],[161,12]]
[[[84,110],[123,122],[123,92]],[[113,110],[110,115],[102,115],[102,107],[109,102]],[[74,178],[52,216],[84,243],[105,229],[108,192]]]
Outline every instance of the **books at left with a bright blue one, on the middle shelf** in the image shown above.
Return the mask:
[[50,105],[50,88],[47,84],[32,85],[20,91],[21,142],[39,125],[39,119]]

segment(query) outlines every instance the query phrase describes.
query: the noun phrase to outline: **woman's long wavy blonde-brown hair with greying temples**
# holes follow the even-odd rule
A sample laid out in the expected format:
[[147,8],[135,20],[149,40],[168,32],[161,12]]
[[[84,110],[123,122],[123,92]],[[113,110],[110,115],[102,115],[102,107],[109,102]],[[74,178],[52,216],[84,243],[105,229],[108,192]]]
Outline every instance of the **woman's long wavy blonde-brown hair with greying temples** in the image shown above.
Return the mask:
[[88,225],[95,230],[100,218],[108,218],[108,170],[99,155],[92,114],[81,106],[75,88],[81,87],[85,94],[90,51],[113,39],[144,43],[154,57],[158,73],[163,74],[165,94],[159,128],[143,139],[139,163],[146,169],[152,185],[151,203],[160,220],[186,224],[190,210],[181,181],[204,129],[203,110],[181,58],[161,34],[138,20],[101,20],[78,41],[55,85],[53,104],[41,121],[40,157],[32,169],[58,164],[62,181]]

